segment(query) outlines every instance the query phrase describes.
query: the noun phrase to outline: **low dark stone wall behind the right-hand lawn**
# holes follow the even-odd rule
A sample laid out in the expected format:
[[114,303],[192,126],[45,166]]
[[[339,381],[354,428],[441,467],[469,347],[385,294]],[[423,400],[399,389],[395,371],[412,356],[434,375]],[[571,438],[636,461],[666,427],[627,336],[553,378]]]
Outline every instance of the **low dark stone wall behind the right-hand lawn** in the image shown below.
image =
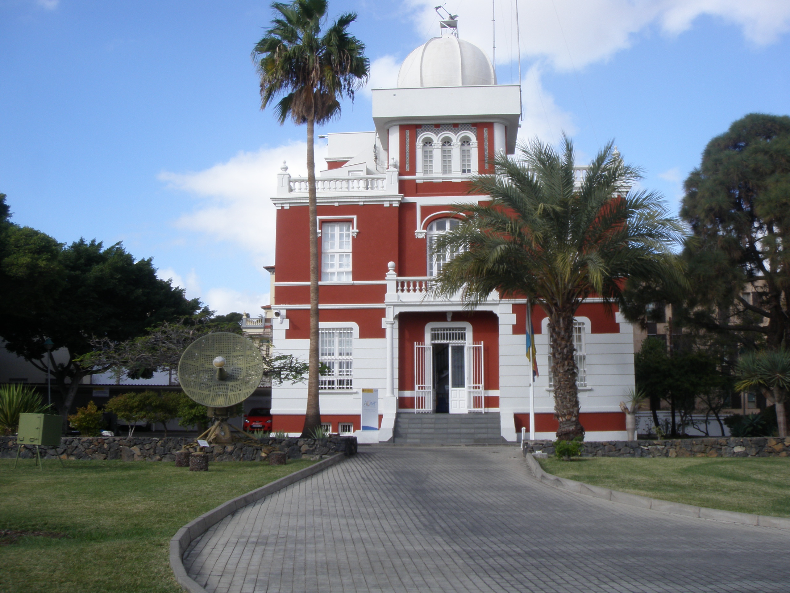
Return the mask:
[[[582,457],[788,457],[790,437],[732,436],[677,440],[609,440],[585,442]],[[525,441],[529,453],[554,455],[551,440]]]

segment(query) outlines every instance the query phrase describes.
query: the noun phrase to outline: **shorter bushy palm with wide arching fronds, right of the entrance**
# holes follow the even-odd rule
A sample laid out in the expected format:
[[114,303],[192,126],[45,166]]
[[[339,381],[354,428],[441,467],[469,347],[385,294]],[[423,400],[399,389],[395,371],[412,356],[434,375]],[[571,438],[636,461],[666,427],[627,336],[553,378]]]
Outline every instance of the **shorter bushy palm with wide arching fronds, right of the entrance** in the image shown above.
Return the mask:
[[583,300],[622,301],[626,278],[656,274],[683,282],[670,251],[683,237],[660,195],[631,191],[640,178],[610,142],[581,178],[574,147],[562,151],[534,140],[521,158],[495,160],[495,175],[472,180],[471,192],[491,200],[462,204],[461,224],[434,244],[436,253],[457,253],[436,278],[434,291],[461,292],[468,307],[492,291],[528,296],[548,315],[557,438],[584,436],[579,422],[574,313]]

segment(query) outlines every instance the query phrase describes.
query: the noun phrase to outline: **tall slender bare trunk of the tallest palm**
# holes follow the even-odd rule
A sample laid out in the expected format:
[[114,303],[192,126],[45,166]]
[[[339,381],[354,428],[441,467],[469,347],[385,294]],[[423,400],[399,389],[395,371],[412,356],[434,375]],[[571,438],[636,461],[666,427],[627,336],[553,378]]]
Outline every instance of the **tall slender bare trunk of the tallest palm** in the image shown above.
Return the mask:
[[315,152],[313,134],[315,118],[307,119],[307,196],[310,216],[310,353],[308,355],[307,410],[302,436],[312,436],[321,425],[321,404],[318,401],[318,198],[315,191]]

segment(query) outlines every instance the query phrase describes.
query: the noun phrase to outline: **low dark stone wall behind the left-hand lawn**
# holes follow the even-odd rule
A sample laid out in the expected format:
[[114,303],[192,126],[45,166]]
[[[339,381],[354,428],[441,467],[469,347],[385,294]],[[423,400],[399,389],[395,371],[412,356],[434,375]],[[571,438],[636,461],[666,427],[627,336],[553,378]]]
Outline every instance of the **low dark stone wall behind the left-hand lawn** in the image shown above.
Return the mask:
[[[194,440],[169,436],[152,438],[150,436],[64,436],[60,447],[42,447],[44,459],[122,459],[123,461],[175,461],[175,451],[181,451]],[[283,451],[290,459],[322,459],[335,453],[354,455],[355,436],[329,436],[325,439],[271,438],[261,444],[234,443],[214,445],[210,449],[198,446],[191,451],[202,449],[209,453],[209,461],[261,461],[272,451]],[[33,445],[24,445],[20,457],[32,459],[36,452]],[[17,441],[13,436],[0,437],[0,458],[17,456]]]

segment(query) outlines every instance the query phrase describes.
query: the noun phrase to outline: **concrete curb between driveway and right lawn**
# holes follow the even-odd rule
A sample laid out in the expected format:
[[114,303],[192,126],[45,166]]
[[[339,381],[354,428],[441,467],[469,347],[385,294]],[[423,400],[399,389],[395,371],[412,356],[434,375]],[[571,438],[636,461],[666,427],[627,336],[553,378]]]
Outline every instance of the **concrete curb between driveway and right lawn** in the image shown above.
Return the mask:
[[695,507],[693,504],[683,504],[680,502],[670,502],[657,498],[641,497],[638,494],[629,494],[619,490],[610,490],[600,486],[576,482],[567,478],[559,478],[547,473],[540,466],[540,463],[532,457],[532,453],[525,451],[524,458],[529,469],[532,470],[535,478],[553,488],[567,490],[568,492],[583,494],[588,497],[602,498],[620,504],[630,504],[632,507],[649,508],[652,511],[665,512],[671,515],[683,515],[687,517],[698,517],[699,519],[712,519],[713,521],[724,521],[725,523],[741,523],[745,525],[758,525],[760,527],[774,527],[776,529],[790,529],[790,519],[784,517],[773,517],[765,515],[752,515],[747,512],[722,511],[718,508]]

